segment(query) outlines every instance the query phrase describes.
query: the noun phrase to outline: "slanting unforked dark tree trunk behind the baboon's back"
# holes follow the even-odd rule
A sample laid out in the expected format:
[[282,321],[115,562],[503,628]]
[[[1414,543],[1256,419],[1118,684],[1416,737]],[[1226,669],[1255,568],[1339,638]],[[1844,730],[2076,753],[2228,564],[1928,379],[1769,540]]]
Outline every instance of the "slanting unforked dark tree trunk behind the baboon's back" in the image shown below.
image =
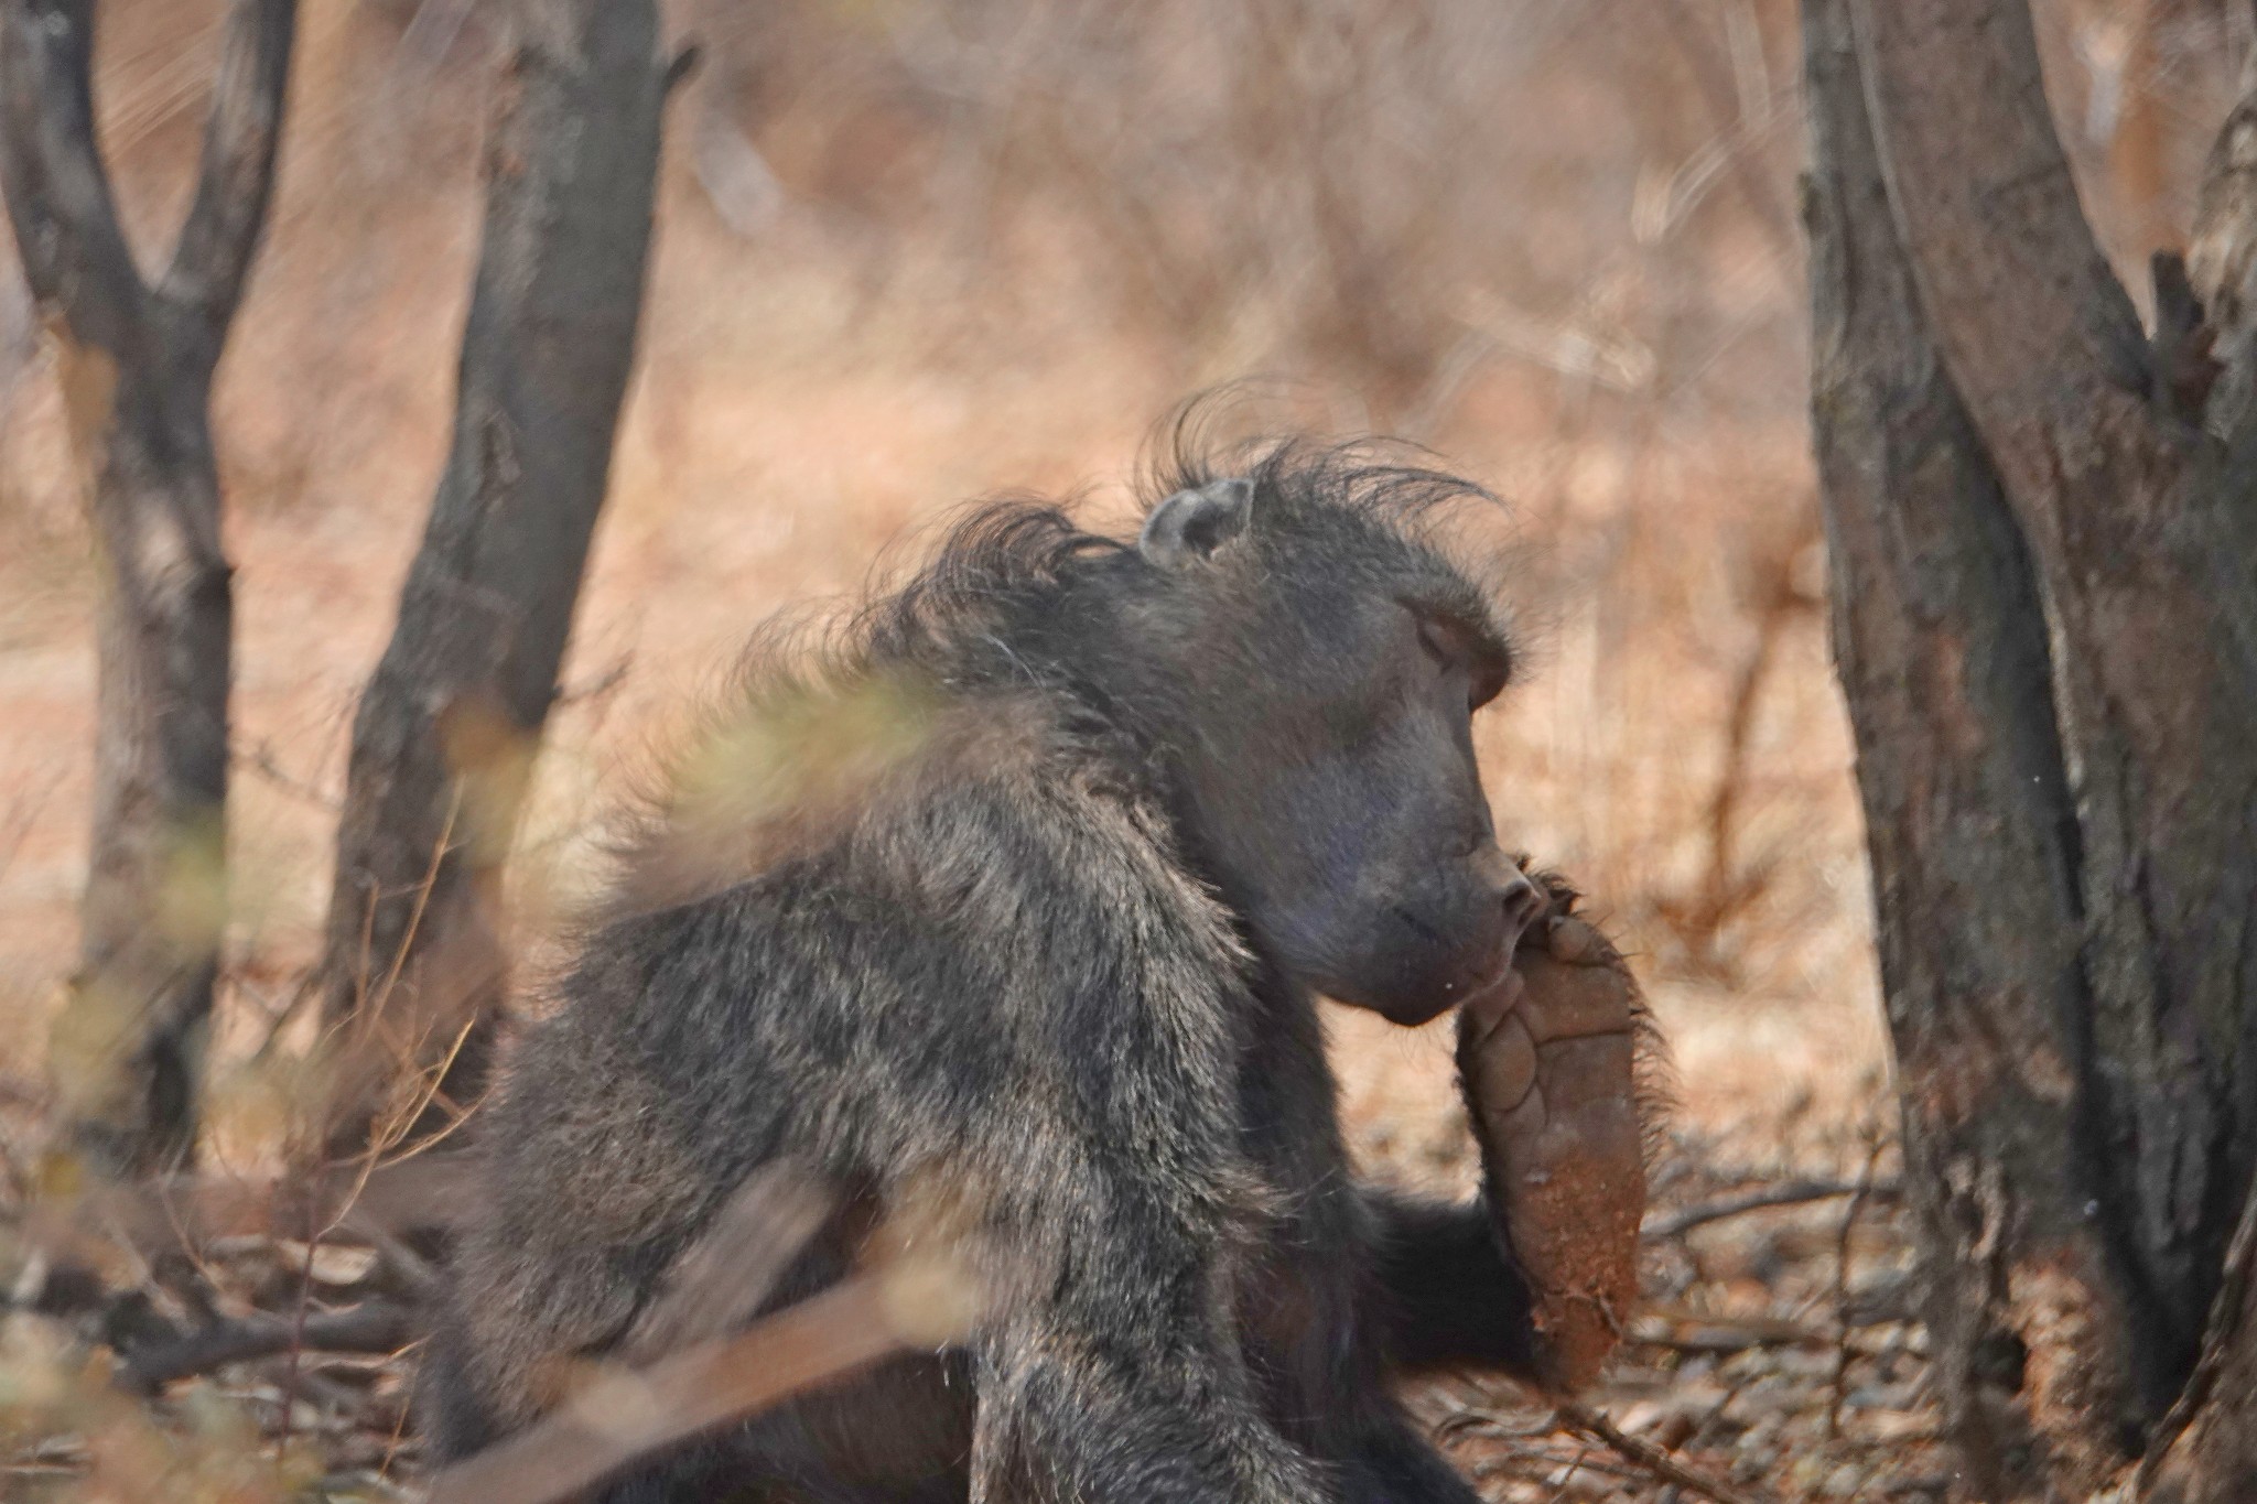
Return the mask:
[[[332,1143],[483,1076],[497,884],[634,359],[668,68],[652,0],[533,0],[485,153],[454,444],[352,726],[323,958]],[[451,1064],[449,1064],[451,1062]],[[440,1100],[440,1107],[447,1100]]]

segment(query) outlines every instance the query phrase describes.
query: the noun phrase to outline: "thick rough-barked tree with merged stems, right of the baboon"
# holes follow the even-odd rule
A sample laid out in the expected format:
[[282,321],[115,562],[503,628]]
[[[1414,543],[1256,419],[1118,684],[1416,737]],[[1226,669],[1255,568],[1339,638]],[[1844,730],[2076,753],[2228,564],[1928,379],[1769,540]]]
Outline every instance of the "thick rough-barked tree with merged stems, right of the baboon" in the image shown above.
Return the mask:
[[[1927,1319],[1979,1495],[2083,1497],[2180,1432],[2239,1299],[2257,449],[2203,431],[2183,280],[2149,340],[2101,259],[2020,0],[1803,23],[1835,654]],[[2248,1497],[2219,1459],[2185,1497]]]

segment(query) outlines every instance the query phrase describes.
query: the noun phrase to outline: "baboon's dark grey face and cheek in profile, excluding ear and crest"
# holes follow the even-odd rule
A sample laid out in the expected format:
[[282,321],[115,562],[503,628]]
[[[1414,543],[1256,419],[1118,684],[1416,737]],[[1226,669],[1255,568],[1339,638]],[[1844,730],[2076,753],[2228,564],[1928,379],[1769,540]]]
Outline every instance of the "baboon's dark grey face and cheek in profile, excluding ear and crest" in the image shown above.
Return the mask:
[[[1542,900],[1474,760],[1472,715],[1510,672],[1485,602],[1440,557],[1347,577],[1280,557],[1259,519],[1178,568],[1221,602],[1180,602],[1203,618],[1178,665],[1198,685],[1176,744],[1187,823],[1262,947],[1406,1026],[1499,985]],[[1230,580],[1255,570],[1271,589]]]

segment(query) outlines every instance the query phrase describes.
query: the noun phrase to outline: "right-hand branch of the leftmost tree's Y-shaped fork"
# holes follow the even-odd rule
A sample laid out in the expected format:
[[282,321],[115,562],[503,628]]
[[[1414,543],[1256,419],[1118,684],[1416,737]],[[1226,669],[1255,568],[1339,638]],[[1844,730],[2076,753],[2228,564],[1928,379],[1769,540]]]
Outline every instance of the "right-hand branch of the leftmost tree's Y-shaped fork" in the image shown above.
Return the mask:
[[228,16],[196,198],[160,284],[169,302],[203,325],[212,359],[266,223],[296,29],[298,0],[235,0]]

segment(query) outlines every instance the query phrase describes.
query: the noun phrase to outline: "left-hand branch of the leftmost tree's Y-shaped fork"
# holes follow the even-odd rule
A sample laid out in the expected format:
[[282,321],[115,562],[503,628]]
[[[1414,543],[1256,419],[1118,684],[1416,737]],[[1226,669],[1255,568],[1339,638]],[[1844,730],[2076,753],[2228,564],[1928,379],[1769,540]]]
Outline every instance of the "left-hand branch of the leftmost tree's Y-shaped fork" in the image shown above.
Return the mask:
[[32,295],[124,356],[149,291],[95,147],[93,0],[0,0],[0,189]]

